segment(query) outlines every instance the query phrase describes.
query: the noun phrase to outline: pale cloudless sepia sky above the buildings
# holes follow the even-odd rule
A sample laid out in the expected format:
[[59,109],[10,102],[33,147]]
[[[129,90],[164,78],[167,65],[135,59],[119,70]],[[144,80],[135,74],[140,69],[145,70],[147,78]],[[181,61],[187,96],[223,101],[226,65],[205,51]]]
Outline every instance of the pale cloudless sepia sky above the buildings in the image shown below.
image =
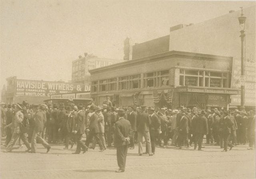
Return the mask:
[[87,52],[123,59],[124,39],[141,43],[254,1],[1,0],[0,88],[6,78],[71,80],[72,60]]

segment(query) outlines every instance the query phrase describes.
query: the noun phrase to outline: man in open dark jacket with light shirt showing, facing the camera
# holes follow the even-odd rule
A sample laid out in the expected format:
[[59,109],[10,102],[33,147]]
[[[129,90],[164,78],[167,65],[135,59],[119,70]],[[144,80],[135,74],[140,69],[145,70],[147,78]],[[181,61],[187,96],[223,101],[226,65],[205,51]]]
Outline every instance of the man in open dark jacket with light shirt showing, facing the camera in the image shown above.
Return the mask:
[[67,111],[66,116],[65,116],[64,120],[62,121],[62,126],[60,128],[60,130],[62,130],[62,133],[65,137],[64,149],[68,149],[69,143],[71,143],[71,148],[74,145],[72,131],[74,131],[75,124],[76,124],[75,117],[71,113],[71,111],[72,111],[71,106],[68,106],[66,108],[66,111]]

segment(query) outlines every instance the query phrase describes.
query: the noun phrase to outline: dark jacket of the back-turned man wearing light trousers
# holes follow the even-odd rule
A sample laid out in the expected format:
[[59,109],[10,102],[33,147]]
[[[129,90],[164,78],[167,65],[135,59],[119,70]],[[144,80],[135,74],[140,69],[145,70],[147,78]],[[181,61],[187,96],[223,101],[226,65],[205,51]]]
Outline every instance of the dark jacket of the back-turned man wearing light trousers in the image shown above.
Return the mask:
[[137,115],[137,131],[138,132],[148,132],[151,121],[149,119],[148,113],[144,111]]

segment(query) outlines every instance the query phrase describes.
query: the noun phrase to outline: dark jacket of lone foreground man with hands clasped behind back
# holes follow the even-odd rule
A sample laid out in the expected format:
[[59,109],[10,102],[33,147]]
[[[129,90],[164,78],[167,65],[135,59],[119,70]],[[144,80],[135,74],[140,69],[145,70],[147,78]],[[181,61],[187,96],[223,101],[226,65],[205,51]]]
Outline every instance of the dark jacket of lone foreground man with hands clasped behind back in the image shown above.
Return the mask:
[[123,145],[129,145],[130,142],[125,141],[126,137],[131,137],[132,126],[130,121],[120,118],[115,123],[115,137],[114,137],[114,146],[121,147]]

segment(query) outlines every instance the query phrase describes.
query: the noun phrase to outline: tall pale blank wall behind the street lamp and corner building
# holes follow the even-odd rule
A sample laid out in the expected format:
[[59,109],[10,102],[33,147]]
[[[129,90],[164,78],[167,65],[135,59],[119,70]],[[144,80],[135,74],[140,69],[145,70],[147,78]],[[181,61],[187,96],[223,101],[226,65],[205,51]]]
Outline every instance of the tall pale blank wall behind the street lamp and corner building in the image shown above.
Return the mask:
[[[244,8],[246,88],[245,105],[256,103],[255,6]],[[169,50],[233,57],[232,87],[240,88],[241,39],[238,17],[241,11],[170,32]],[[249,62],[248,62],[249,61]],[[240,104],[240,95],[232,95],[232,104]]]

